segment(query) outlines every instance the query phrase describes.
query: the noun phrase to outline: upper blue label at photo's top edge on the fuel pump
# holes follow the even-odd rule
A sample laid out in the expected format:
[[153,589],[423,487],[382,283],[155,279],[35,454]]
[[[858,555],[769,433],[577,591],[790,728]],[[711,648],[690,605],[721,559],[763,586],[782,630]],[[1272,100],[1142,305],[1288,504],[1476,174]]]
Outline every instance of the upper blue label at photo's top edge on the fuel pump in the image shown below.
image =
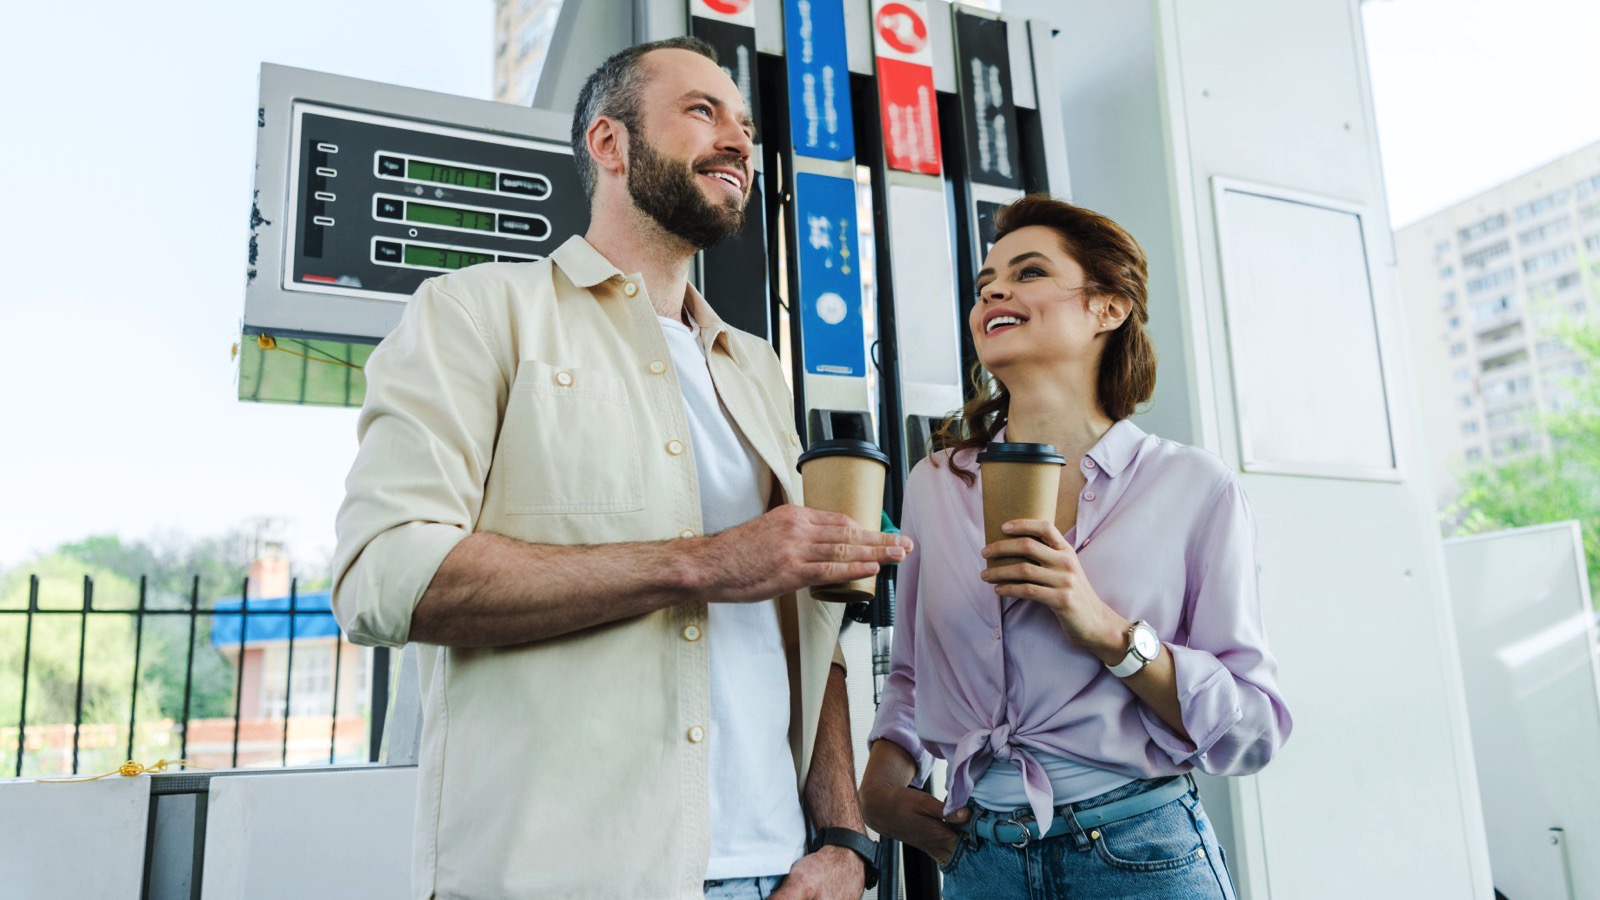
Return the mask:
[[784,0],[784,62],[795,152],[824,160],[854,157],[843,0]]

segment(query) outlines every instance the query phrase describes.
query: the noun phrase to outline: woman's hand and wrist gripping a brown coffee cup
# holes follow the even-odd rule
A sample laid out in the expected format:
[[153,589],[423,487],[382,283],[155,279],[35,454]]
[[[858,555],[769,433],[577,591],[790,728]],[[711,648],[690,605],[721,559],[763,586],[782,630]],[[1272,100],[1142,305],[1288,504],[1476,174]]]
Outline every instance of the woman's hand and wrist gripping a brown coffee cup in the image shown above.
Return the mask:
[[1045,604],[1056,613],[1067,641],[1106,665],[1122,661],[1128,652],[1130,621],[1094,593],[1078,554],[1054,522],[1014,519],[1000,528],[1010,536],[986,546],[984,559],[1026,557],[1032,562],[1008,559],[984,569],[982,580],[995,585],[995,594]]

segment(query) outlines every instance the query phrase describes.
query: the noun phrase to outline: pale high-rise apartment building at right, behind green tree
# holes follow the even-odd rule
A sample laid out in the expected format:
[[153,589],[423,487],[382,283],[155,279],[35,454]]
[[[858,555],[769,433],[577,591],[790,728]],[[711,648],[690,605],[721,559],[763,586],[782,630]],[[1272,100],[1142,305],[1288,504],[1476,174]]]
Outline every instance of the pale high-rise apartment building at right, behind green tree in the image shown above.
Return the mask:
[[1402,227],[1395,253],[1448,503],[1464,469],[1547,448],[1539,416],[1584,375],[1558,331],[1600,309],[1600,143]]

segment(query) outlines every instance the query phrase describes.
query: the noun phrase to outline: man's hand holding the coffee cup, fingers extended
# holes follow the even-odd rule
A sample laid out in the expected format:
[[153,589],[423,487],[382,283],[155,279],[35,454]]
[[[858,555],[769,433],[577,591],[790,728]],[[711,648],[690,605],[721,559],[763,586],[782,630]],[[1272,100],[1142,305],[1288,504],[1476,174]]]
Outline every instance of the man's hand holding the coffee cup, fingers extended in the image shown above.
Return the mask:
[[862,528],[840,512],[784,504],[704,538],[698,549],[702,596],[741,602],[867,578],[906,559],[910,538]]

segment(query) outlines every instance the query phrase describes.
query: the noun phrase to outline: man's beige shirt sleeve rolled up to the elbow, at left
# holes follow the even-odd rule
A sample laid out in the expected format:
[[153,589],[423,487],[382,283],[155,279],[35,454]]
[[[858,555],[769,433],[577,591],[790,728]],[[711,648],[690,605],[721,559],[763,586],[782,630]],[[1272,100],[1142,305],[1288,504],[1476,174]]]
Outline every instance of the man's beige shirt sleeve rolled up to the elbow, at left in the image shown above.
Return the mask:
[[506,391],[467,307],[424,282],[366,364],[336,522],[333,612],[357,644],[405,644],[440,562],[472,533]]

